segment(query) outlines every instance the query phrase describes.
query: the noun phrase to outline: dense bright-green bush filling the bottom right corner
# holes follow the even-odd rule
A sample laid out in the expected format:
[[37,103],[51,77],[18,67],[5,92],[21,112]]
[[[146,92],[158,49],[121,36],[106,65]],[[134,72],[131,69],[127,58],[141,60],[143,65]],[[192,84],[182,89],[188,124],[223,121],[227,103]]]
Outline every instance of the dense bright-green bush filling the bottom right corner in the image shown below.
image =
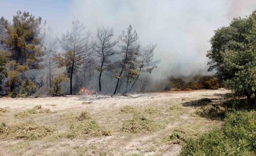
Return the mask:
[[190,139],[181,156],[247,156],[256,152],[256,112],[236,111],[227,115],[223,127]]

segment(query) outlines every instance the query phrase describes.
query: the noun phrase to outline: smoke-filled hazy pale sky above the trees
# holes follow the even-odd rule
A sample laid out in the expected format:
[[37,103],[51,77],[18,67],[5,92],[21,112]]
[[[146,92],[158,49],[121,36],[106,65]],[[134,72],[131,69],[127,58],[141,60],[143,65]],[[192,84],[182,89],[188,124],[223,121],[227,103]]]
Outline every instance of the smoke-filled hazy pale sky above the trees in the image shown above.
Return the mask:
[[153,72],[160,77],[206,72],[213,30],[255,9],[256,0],[0,0],[0,16],[11,20],[17,10],[28,11],[58,34],[79,19],[94,39],[98,26],[113,27],[116,39],[131,24],[141,45],[157,43],[161,63]]

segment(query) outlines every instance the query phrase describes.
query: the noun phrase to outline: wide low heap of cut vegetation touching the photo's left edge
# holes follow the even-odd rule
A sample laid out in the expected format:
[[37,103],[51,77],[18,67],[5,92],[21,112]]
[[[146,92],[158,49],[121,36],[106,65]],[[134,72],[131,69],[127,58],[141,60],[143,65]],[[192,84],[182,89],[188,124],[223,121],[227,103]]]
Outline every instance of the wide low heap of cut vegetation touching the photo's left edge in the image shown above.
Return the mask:
[[20,123],[15,126],[6,126],[5,123],[0,125],[0,139],[26,139],[36,140],[44,138],[54,132],[54,129],[37,125],[34,122]]

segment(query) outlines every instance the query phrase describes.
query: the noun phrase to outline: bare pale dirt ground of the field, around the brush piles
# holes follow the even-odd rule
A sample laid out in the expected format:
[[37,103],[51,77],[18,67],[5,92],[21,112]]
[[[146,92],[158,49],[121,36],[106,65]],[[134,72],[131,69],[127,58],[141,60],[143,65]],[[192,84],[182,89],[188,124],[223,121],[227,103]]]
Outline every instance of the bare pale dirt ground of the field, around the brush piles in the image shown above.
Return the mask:
[[[37,124],[51,126],[57,132],[67,132],[72,122],[63,121],[63,115],[73,114],[78,116],[86,110],[91,117],[111,132],[110,136],[73,139],[61,137],[53,139],[47,136],[38,140],[2,139],[0,140],[1,156],[176,156],[179,154],[182,143],[166,143],[164,137],[172,134],[175,128],[181,127],[201,133],[215,126],[220,126],[221,121],[201,118],[193,114],[197,109],[186,105],[191,101],[201,98],[219,99],[227,93],[227,90],[194,90],[194,91],[166,91],[155,93],[137,93],[128,96],[62,96],[42,98],[0,98],[0,108],[9,110],[2,113],[0,123],[8,126],[20,122],[33,120]],[[86,101],[87,104],[82,104]],[[166,111],[171,105],[180,104],[184,109]],[[15,118],[15,114],[36,105],[50,109],[54,113],[32,114],[25,118]],[[153,107],[161,111],[152,118],[160,125],[154,132],[127,133],[122,131],[124,121],[131,119],[132,114],[120,112],[123,106],[134,106],[143,111]],[[72,116],[72,115],[71,115]],[[70,118],[71,118],[70,116]],[[67,115],[69,118],[69,116]],[[1,134],[0,134],[1,135]]]

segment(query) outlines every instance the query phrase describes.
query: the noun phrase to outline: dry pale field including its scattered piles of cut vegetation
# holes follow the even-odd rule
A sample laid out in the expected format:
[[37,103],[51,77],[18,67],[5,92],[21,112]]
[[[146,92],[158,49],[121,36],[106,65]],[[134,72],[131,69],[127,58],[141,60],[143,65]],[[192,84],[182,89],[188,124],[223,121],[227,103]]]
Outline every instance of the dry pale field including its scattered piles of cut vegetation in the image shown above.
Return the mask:
[[[0,155],[176,156],[181,150],[183,138],[197,137],[201,132],[222,124],[221,121],[194,114],[197,109],[196,101],[202,98],[218,101],[227,92],[195,90],[114,97],[2,97],[0,108],[6,110],[0,112],[0,123],[4,122],[3,127],[16,127],[15,130],[18,131],[17,125],[23,122],[39,127],[46,125],[52,129],[46,128],[45,132],[42,128],[37,132],[45,132],[44,135],[31,137],[29,134],[29,137],[24,137],[11,130],[5,133],[6,136],[1,136],[4,133],[1,134],[0,127]],[[83,111],[88,114],[79,117]],[[141,120],[137,121],[138,118]],[[86,121],[93,121],[97,126],[80,130],[79,124],[83,127],[83,124],[87,124]],[[147,123],[151,125],[145,127]],[[27,133],[33,128],[28,129],[25,129]],[[179,131],[184,136],[170,137],[174,131]],[[186,136],[186,132],[192,135]]]

